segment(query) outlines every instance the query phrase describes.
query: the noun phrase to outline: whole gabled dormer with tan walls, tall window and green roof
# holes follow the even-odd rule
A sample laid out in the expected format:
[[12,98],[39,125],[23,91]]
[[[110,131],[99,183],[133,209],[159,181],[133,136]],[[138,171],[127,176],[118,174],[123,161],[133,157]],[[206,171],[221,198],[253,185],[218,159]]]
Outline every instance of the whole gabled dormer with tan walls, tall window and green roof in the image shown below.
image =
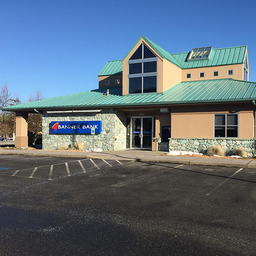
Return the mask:
[[[163,93],[181,81],[181,69],[167,60],[175,58],[141,36],[122,61],[122,93]],[[170,79],[172,78],[172,79]]]

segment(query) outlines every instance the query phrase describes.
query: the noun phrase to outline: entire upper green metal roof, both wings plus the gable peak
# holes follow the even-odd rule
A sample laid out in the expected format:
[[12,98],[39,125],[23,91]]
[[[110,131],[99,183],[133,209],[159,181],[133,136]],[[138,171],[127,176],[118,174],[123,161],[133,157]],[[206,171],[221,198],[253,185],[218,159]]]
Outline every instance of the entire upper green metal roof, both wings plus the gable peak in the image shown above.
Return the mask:
[[98,76],[122,74],[122,61],[127,57],[132,49],[134,49],[134,47],[141,38],[143,38],[156,52],[158,52],[158,54],[162,58],[165,58],[166,60],[183,69],[241,64],[244,62],[247,50],[247,46],[212,49],[209,55],[209,59],[207,60],[187,61],[190,52],[170,54],[169,52],[166,52],[166,50],[152,42],[150,39],[142,35],[122,60],[108,61],[108,63],[103,67]]

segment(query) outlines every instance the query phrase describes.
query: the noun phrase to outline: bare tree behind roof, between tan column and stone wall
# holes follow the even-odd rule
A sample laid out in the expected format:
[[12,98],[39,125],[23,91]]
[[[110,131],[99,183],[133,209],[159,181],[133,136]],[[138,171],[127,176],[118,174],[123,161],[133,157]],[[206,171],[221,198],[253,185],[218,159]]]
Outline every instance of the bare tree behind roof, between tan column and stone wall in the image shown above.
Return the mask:
[[[35,94],[30,95],[28,102],[44,99],[41,90],[37,90]],[[42,132],[42,115],[38,113],[29,113],[28,131],[35,135]]]

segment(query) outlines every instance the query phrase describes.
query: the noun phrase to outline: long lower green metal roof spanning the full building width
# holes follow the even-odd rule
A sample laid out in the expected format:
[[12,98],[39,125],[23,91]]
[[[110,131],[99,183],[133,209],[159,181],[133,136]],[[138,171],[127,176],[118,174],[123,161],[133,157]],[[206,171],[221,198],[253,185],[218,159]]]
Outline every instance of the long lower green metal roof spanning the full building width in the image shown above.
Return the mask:
[[180,82],[164,93],[122,95],[122,87],[109,87],[74,93],[3,108],[6,111],[31,111],[64,108],[100,108],[185,103],[239,102],[256,99],[256,82],[213,79]]

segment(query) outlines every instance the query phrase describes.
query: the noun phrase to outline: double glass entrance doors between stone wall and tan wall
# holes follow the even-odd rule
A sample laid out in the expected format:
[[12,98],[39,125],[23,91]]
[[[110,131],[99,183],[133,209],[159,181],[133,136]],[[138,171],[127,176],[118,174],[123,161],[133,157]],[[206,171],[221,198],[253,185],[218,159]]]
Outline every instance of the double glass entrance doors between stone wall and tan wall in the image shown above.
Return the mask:
[[152,148],[153,118],[131,118],[131,148]]

